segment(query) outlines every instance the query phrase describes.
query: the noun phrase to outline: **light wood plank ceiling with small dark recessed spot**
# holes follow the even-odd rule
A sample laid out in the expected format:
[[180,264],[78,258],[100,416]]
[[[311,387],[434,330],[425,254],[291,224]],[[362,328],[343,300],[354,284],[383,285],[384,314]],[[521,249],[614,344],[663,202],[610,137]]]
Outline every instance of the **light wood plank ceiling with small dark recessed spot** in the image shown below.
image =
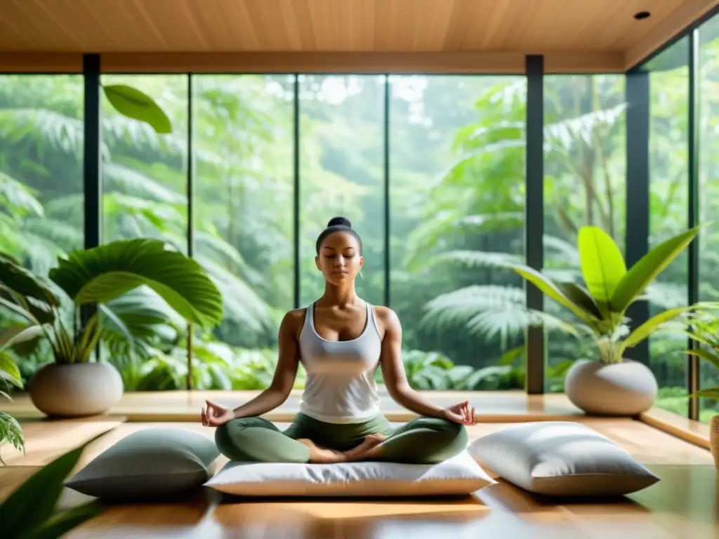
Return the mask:
[[625,67],[717,1],[0,0],[0,51],[542,53]]

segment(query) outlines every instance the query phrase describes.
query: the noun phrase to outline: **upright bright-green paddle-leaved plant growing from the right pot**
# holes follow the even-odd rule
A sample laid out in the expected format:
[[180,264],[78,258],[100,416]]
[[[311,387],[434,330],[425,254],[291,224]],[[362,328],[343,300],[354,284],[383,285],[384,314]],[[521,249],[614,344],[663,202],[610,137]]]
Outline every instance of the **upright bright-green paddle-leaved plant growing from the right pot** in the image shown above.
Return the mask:
[[699,230],[697,226],[667,239],[627,269],[618,245],[609,234],[596,226],[583,226],[577,236],[577,247],[585,287],[573,281],[555,282],[525,265],[508,267],[579,318],[580,323],[574,327],[595,339],[601,361],[617,363],[623,361],[626,349],[644,341],[664,323],[701,307],[689,305],[665,310],[633,331],[629,331],[627,325],[629,306],[643,297],[646,287],[690,244]]

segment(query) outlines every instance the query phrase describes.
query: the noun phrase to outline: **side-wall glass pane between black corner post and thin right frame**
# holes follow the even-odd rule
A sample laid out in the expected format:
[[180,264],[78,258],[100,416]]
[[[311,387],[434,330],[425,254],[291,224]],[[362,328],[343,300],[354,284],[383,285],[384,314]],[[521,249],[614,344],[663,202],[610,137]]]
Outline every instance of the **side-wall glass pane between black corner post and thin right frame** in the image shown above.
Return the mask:
[[[662,61],[666,55],[672,62]],[[683,63],[679,59],[683,58]],[[687,229],[689,188],[689,47],[677,42],[649,72],[649,248]],[[684,250],[649,287],[649,315],[687,305],[688,252]],[[657,331],[649,360],[659,384],[655,405],[687,416],[687,338]]]

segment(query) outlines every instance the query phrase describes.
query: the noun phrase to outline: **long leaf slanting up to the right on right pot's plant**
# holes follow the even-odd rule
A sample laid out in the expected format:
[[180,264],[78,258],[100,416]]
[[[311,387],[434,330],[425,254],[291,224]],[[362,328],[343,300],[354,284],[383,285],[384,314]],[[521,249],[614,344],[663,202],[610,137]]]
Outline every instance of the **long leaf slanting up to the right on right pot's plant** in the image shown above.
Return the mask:
[[700,228],[695,226],[682,234],[677,234],[641,257],[616,286],[609,302],[611,310],[615,313],[624,313],[636,297],[644,292],[647,285],[692,242]]

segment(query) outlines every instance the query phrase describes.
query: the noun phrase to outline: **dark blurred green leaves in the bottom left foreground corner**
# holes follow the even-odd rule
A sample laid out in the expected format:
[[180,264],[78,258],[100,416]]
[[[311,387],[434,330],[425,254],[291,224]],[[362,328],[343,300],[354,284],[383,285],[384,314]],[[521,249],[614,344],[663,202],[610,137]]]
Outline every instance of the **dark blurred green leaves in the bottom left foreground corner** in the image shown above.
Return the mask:
[[75,468],[88,443],[43,466],[0,504],[0,522],[7,537],[57,539],[100,514],[103,507],[99,502],[56,510],[65,478]]

